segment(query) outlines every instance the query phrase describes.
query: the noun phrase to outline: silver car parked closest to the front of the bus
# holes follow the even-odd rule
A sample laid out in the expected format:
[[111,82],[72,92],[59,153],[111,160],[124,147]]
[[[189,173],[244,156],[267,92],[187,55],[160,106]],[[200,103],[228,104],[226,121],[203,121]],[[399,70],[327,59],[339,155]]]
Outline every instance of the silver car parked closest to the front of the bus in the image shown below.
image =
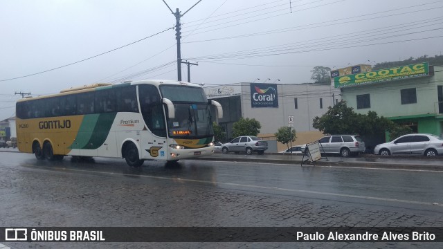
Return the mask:
[[261,155],[264,154],[266,149],[268,149],[268,142],[256,136],[239,136],[230,142],[226,142],[226,144],[221,147],[223,154],[245,151],[246,154],[251,155],[253,151],[257,151],[257,153]]

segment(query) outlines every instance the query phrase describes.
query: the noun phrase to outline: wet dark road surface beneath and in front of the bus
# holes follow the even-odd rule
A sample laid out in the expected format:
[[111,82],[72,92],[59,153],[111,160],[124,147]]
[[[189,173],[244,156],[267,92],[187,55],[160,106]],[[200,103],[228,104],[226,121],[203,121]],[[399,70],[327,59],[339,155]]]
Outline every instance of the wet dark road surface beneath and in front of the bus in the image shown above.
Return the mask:
[[[136,169],[111,158],[47,162],[10,152],[0,152],[0,158],[0,226],[443,226],[443,172],[216,160],[183,160],[179,165],[145,162]],[[57,243],[6,244],[60,248]],[[294,243],[222,245],[293,248]],[[406,244],[377,245],[404,248]],[[138,248],[140,244],[66,246]],[[181,248],[183,243],[149,246]],[[334,247],[350,248],[350,244],[334,243]]]

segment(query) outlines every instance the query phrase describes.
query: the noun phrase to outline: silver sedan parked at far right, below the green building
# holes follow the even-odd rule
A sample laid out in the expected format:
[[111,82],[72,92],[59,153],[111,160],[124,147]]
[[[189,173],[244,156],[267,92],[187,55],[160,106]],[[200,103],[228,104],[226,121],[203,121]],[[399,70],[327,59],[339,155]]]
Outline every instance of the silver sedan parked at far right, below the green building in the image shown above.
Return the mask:
[[393,154],[443,155],[443,139],[432,134],[408,134],[391,142],[377,145],[374,154],[382,156]]

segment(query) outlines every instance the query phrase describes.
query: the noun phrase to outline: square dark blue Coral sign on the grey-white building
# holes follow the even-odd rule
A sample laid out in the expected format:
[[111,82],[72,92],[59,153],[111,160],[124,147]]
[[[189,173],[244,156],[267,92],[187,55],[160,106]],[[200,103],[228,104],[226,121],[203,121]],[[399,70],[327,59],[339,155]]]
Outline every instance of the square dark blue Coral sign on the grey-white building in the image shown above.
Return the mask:
[[251,107],[278,107],[277,84],[251,83]]

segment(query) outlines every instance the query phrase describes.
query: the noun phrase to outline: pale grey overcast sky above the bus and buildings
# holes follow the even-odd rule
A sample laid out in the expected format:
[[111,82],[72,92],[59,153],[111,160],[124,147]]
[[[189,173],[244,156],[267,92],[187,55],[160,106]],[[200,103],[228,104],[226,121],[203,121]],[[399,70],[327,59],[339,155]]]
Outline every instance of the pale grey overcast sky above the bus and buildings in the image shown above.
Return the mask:
[[[183,14],[197,1],[166,3]],[[202,0],[181,17],[181,57],[198,62],[191,81],[208,86],[300,84],[314,66],[441,55],[442,13],[433,0]],[[15,116],[19,91],[177,80],[174,25],[162,0],[0,1],[0,120]]]

